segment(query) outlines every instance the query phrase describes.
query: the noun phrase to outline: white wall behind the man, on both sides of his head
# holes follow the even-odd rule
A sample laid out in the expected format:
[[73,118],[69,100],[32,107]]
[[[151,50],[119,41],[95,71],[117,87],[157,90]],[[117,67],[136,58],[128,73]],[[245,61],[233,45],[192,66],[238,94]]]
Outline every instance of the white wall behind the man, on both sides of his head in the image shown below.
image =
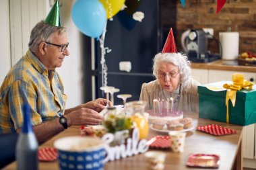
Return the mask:
[[[63,66],[57,69],[67,94],[67,108],[82,103],[82,34],[71,20],[75,0],[62,1],[61,23],[67,28],[69,52]],[[9,10],[10,9],[10,10]],[[28,50],[30,31],[44,19],[51,7],[49,0],[0,0],[0,84],[9,71]]]

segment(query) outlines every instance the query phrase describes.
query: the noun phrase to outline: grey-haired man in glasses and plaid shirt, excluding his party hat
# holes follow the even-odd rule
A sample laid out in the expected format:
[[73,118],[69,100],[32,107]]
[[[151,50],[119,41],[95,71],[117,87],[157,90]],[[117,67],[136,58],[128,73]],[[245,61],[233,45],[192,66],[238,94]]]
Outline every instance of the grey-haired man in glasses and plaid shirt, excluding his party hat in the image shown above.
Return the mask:
[[[47,18],[46,18],[47,19]],[[0,134],[19,132],[23,124],[22,105],[31,106],[32,125],[43,142],[71,125],[95,125],[106,99],[96,99],[65,109],[67,96],[55,68],[69,55],[66,29],[39,22],[32,29],[29,50],[14,65],[0,89]]]

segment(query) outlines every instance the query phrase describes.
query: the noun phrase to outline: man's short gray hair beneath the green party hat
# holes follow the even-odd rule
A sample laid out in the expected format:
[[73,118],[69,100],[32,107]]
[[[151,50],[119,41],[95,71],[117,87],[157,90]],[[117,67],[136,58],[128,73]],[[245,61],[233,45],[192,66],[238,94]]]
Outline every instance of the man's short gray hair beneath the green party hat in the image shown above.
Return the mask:
[[56,27],[45,24],[44,21],[38,22],[31,31],[28,46],[32,52],[38,52],[38,45],[43,41],[51,41],[51,35],[55,32],[62,34],[66,31],[65,27]]

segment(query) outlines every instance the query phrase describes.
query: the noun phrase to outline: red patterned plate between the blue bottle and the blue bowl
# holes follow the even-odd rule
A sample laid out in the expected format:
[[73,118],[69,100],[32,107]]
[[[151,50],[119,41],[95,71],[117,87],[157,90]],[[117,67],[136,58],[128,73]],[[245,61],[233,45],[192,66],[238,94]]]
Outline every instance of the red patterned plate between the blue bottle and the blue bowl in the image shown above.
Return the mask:
[[38,150],[39,161],[55,161],[57,158],[57,148],[40,148]]

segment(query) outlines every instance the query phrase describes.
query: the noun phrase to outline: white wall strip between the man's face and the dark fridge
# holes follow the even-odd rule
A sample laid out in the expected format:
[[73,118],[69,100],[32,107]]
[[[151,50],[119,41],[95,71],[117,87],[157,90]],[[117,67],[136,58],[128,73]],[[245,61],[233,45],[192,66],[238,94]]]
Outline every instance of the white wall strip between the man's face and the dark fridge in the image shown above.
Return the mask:
[[69,56],[66,56],[61,68],[57,69],[63,79],[67,93],[67,108],[82,103],[83,73],[82,73],[82,34],[77,30],[71,19],[71,7],[75,0],[63,1],[60,7],[61,24],[67,28],[69,41]]

